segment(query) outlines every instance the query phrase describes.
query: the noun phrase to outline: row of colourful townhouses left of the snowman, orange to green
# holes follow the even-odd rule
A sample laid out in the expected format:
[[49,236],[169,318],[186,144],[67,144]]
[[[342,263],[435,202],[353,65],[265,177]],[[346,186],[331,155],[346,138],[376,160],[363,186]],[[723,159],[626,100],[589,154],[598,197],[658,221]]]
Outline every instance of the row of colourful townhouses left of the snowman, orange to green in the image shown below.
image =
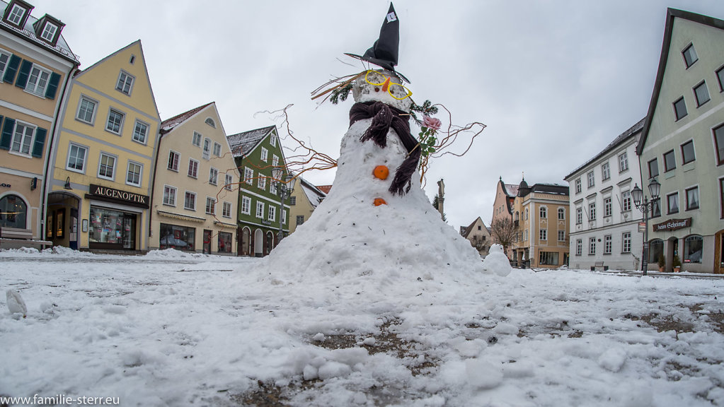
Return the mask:
[[140,40],[78,70],[62,22],[0,6],[2,247],[263,256],[308,217],[277,196],[276,127],[227,137],[215,103],[162,121]]

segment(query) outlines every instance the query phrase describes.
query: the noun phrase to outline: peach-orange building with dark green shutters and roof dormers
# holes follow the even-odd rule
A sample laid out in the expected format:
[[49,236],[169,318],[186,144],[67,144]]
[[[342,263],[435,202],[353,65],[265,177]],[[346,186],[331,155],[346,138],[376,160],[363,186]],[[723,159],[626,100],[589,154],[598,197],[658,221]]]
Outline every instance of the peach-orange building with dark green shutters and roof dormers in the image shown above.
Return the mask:
[[48,14],[0,3],[1,247],[43,247],[43,181],[51,134],[78,60]]

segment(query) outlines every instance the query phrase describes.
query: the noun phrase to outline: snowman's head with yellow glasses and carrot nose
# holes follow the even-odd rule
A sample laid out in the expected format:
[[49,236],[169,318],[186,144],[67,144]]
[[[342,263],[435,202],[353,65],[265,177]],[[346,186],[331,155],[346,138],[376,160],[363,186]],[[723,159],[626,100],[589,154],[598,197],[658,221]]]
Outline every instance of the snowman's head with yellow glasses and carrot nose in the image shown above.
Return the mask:
[[355,80],[352,93],[357,103],[379,101],[401,111],[410,111],[412,103],[412,92],[403,85],[403,80],[395,72],[387,69],[363,72]]

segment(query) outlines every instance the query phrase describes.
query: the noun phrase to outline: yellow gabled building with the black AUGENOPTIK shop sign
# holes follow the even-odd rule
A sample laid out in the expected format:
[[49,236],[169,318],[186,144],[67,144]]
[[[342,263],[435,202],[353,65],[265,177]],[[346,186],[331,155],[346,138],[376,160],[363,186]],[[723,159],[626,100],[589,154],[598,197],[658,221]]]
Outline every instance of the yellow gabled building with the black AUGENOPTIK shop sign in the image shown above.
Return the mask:
[[75,75],[59,120],[46,239],[72,249],[148,250],[161,119],[140,40]]

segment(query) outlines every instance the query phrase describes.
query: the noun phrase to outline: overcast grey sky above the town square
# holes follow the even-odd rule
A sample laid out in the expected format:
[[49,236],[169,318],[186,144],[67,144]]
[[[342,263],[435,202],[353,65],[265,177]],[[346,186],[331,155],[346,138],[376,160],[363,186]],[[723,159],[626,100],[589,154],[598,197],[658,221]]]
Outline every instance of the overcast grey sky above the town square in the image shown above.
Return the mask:
[[[310,93],[364,68],[390,1],[32,0],[33,15],[67,24],[81,69],[140,39],[161,119],[215,101],[227,134],[281,124],[336,158],[351,98]],[[462,158],[432,163],[427,195],[445,179],[450,225],[489,226],[500,176],[518,184],[563,177],[643,118],[666,8],[724,19],[722,0],[396,0],[397,70],[418,103],[442,103],[453,124],[487,129]],[[444,125],[445,115],[438,115]],[[464,149],[464,142],[458,146]],[[453,149],[454,150],[454,149]],[[331,184],[334,171],[308,172]]]

